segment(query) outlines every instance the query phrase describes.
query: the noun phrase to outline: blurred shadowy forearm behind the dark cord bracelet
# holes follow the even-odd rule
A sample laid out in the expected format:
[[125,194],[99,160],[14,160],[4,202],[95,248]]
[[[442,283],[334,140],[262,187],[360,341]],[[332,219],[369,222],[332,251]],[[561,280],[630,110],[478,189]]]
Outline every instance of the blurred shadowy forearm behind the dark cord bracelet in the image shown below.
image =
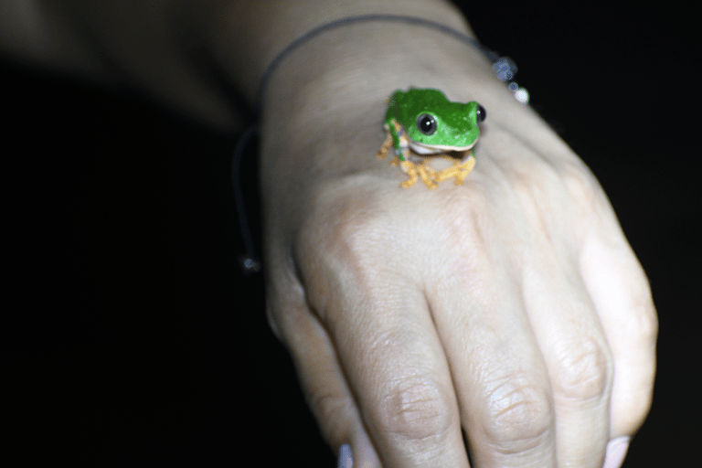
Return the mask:
[[[5,0],[3,7],[0,48],[5,54],[130,86],[222,129],[236,121],[232,90],[252,104],[271,60],[314,27],[342,17],[384,13],[468,30],[445,0],[340,5],[320,0]],[[386,53],[405,52],[388,47]],[[403,67],[411,64],[405,60]],[[301,83],[308,82],[299,75]]]

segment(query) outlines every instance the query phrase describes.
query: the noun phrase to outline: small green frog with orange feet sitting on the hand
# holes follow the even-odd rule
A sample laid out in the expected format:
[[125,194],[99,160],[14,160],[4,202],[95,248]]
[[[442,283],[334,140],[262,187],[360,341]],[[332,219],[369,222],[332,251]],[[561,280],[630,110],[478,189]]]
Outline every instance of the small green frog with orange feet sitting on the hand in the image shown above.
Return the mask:
[[[453,176],[456,177],[456,185],[461,185],[475,165],[473,146],[480,135],[478,122],[484,120],[485,110],[475,101],[466,104],[452,102],[443,92],[433,89],[396,90],[388,100],[383,125],[388,137],[378,151],[378,158],[385,158],[390,144],[395,146],[397,158],[390,164],[400,165],[410,176],[402,183],[403,188],[413,186],[418,176],[432,189],[437,187],[438,182]],[[413,157],[411,152],[420,155],[447,152],[467,154],[463,160],[437,172],[426,164],[426,159]]]

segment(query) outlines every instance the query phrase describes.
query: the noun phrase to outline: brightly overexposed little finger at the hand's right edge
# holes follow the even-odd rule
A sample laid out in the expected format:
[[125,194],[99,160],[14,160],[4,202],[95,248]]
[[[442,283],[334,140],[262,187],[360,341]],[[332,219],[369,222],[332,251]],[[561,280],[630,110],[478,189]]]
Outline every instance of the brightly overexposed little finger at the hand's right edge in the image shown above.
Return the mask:
[[636,433],[651,407],[658,323],[644,271],[618,227],[590,239],[582,276],[601,317],[615,363],[611,438]]

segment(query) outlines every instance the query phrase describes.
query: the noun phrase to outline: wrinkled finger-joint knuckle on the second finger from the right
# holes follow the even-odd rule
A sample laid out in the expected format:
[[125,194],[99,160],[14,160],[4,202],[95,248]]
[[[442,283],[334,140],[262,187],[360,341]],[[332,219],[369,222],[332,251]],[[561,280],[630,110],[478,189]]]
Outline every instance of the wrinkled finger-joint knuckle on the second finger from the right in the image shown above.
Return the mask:
[[601,398],[612,382],[612,356],[594,339],[570,340],[558,356],[553,381],[562,398]]

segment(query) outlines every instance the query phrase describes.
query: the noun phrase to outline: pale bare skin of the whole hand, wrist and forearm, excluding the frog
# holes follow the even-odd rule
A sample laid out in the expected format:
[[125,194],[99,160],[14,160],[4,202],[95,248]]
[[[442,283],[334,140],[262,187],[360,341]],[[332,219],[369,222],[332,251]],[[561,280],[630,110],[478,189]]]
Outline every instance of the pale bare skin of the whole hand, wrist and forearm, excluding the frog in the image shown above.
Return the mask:
[[[0,24],[5,53],[115,83],[119,64],[218,128],[236,112],[188,50],[252,102],[282,48],[339,17],[401,11],[472,34],[438,0],[72,5]],[[78,18],[90,47],[70,34]],[[86,59],[94,48],[110,63]],[[410,86],[489,109],[463,186],[400,192],[372,157],[385,100]],[[334,451],[349,443],[364,468],[467,467],[463,429],[477,467],[599,468],[608,441],[638,431],[657,333],[644,271],[595,177],[479,52],[407,25],[336,28],[282,62],[261,125],[268,320]]]

